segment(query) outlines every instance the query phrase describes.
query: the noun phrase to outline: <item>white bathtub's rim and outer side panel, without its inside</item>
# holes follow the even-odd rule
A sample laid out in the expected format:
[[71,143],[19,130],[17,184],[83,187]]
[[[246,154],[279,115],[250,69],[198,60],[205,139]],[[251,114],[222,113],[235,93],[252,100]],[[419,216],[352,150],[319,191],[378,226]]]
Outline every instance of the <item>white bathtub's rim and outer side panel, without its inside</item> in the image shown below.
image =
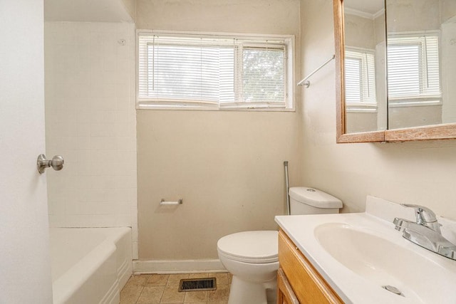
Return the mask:
[[118,304],[120,290],[133,273],[131,228],[80,228],[80,231],[97,231],[106,237],[53,281],[53,303]]

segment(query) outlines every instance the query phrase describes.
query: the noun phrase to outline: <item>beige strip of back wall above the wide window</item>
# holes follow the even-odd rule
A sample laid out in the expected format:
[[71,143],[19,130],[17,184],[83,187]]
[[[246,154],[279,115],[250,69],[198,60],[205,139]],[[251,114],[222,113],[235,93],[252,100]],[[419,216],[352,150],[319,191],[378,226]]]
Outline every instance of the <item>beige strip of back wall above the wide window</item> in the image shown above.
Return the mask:
[[137,0],[136,12],[137,28],[299,33],[299,0]]

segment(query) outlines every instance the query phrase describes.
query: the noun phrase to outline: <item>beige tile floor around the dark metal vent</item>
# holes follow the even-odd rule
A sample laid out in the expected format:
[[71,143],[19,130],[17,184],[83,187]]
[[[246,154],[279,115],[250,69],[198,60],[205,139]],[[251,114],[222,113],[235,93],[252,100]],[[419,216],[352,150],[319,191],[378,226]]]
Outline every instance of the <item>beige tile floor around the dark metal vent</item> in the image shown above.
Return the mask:
[[[182,278],[217,278],[217,290],[179,292]],[[131,276],[120,291],[120,304],[227,304],[229,273],[143,274]]]

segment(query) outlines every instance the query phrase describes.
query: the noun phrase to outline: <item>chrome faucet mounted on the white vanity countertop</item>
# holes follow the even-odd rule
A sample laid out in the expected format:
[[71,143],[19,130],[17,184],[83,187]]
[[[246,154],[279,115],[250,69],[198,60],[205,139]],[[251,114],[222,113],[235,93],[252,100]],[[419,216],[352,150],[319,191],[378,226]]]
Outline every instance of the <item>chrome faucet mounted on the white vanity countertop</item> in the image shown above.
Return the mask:
[[435,217],[435,213],[425,206],[401,205],[415,208],[416,222],[396,217],[393,221],[395,229],[403,231],[405,239],[441,256],[456,260],[456,245],[442,236],[440,224]]

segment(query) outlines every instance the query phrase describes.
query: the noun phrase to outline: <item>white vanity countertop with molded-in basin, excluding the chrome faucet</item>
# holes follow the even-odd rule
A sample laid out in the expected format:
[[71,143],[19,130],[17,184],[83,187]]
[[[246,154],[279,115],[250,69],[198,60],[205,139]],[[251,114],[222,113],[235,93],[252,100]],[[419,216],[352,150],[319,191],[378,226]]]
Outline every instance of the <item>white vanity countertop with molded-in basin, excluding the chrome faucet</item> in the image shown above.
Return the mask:
[[[344,303],[455,304],[456,261],[404,239],[395,216],[415,219],[413,209],[368,196],[364,213],[276,216],[276,222]],[[455,243],[456,222],[439,221]]]

